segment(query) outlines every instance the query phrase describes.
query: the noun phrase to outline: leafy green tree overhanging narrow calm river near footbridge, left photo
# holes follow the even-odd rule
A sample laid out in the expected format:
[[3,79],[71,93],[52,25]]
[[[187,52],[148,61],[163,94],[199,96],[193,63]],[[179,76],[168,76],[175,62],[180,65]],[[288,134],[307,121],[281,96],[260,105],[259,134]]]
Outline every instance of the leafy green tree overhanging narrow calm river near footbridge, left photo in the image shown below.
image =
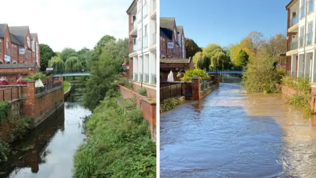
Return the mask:
[[109,90],[116,88],[113,82],[117,79],[119,67],[121,61],[113,59],[106,51],[101,53],[98,60],[89,62],[91,76],[85,82],[84,106],[93,110]]

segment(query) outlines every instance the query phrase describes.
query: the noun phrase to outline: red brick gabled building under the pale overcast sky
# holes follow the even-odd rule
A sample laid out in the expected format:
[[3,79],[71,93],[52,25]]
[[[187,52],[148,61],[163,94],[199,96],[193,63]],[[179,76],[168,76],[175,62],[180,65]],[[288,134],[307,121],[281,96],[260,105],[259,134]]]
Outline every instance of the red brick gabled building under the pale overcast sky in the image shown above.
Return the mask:
[[28,26],[0,24],[0,64],[14,63],[37,63],[40,67],[38,35],[31,34]]

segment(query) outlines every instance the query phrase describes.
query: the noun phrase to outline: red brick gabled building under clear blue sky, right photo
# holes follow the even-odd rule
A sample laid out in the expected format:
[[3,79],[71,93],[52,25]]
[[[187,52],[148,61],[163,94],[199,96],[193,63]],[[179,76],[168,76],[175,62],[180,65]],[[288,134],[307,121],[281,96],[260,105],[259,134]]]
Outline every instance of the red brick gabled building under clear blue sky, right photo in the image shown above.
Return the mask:
[[[183,26],[174,17],[160,17],[160,58],[186,58]],[[173,48],[168,48],[172,42]]]

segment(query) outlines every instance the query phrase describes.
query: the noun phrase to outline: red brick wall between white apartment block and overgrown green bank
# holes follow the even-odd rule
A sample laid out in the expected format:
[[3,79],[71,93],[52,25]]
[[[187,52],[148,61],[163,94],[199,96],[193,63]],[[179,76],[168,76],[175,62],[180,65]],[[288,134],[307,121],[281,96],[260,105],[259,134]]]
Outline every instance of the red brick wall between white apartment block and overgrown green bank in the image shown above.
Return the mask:
[[125,99],[136,96],[136,105],[142,111],[145,120],[149,123],[152,138],[156,140],[156,104],[150,104],[147,97],[121,85],[118,85],[118,89]]

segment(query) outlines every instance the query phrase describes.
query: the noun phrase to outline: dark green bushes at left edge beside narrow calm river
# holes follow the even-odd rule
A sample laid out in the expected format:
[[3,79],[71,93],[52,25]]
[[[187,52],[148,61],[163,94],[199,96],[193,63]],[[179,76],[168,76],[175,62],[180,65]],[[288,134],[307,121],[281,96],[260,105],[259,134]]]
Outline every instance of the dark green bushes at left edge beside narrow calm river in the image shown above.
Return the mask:
[[33,128],[33,119],[27,117],[11,117],[10,103],[0,102],[0,163],[6,162],[10,151],[10,143],[21,139]]

